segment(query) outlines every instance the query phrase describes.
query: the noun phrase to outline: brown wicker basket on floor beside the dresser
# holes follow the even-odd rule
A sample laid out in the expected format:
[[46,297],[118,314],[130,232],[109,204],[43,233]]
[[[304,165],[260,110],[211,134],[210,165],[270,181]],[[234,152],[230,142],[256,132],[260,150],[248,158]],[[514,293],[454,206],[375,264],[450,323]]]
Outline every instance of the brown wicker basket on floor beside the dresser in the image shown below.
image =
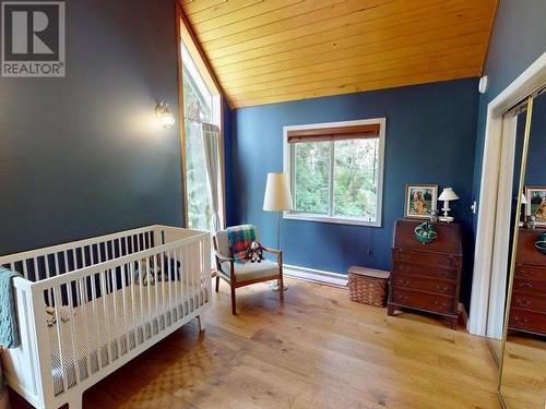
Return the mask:
[[351,301],[384,306],[389,292],[389,272],[353,266],[348,269],[348,297]]

